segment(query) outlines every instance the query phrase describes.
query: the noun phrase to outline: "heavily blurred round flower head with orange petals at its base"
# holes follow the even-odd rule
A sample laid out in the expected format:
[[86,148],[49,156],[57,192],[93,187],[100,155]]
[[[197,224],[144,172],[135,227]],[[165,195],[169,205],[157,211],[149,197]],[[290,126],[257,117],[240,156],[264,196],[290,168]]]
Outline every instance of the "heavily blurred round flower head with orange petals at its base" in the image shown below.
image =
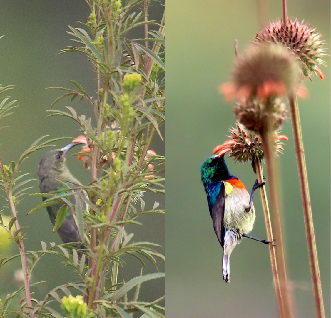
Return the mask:
[[284,96],[300,87],[302,72],[296,57],[284,46],[255,43],[238,57],[231,82],[219,87],[225,99]]

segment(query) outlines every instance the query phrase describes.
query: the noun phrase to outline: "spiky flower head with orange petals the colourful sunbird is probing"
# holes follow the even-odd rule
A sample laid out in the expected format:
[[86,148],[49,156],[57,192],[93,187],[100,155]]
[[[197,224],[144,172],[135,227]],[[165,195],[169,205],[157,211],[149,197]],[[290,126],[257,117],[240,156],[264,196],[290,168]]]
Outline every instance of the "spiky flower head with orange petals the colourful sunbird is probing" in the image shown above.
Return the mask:
[[[238,162],[262,160],[264,158],[262,140],[259,134],[245,129],[238,122],[236,128],[231,127],[230,133],[231,136],[226,136],[230,139],[215,147],[213,154],[218,153],[218,157],[220,157],[229,152],[229,157],[234,157],[234,160]],[[277,155],[278,152],[284,150],[283,143],[280,140],[288,140],[288,138],[276,133],[273,139]]]

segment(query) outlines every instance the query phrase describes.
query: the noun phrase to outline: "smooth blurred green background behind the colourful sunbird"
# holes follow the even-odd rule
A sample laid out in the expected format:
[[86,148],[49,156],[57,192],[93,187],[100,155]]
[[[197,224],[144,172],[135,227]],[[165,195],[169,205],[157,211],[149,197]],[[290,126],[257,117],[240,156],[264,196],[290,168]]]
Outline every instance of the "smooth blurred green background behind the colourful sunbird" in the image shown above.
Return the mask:
[[[280,0],[266,3],[269,21],[282,17]],[[223,282],[222,248],[200,181],[201,164],[235,125],[233,104],[224,103],[217,86],[229,79],[234,40],[238,39],[242,52],[259,31],[257,2],[167,0],[166,11],[167,315],[278,317],[265,245],[244,239],[231,255],[231,283]],[[289,0],[288,15],[304,19],[330,43],[330,1]],[[313,76],[313,82],[305,81],[310,98],[299,100],[299,107],[325,313],[330,317],[329,56],[325,60],[324,81],[318,76]],[[290,117],[282,134],[289,137],[279,158],[288,274],[297,316],[311,318],[315,309]],[[251,165],[225,158],[230,172],[251,189],[256,179]],[[254,204],[257,218],[251,235],[266,238],[259,193]]]

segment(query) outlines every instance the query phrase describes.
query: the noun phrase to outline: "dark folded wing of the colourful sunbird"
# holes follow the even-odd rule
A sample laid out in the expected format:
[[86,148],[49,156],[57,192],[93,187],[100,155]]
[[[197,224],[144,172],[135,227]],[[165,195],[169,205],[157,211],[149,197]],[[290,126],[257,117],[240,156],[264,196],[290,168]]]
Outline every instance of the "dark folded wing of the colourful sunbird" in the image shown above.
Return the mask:
[[213,207],[211,207],[211,209],[212,209],[214,231],[222,247],[224,244],[224,232],[225,232],[224,223],[223,223],[224,207],[225,207],[225,187],[224,187],[224,183],[221,182],[219,194],[216,197],[216,203]]

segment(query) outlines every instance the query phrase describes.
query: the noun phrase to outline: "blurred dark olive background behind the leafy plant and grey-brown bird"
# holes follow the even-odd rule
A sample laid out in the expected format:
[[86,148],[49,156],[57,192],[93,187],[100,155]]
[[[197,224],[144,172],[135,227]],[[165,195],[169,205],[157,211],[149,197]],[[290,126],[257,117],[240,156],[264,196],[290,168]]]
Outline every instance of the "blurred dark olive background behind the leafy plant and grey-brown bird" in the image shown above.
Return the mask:
[[[163,1],[164,3],[164,1]],[[150,9],[151,19],[160,21],[163,7],[153,3]],[[76,137],[81,134],[78,126],[65,117],[46,118],[46,109],[51,108],[51,103],[63,93],[61,91],[46,90],[47,87],[74,88],[68,80],[75,80],[81,84],[90,96],[95,96],[96,74],[91,64],[83,54],[69,53],[56,55],[59,50],[69,45],[71,35],[66,33],[71,27],[82,27],[77,21],[86,22],[90,11],[84,0],[12,0],[0,2],[0,35],[5,35],[0,41],[1,63],[0,83],[3,86],[15,84],[15,89],[7,92],[12,99],[17,99],[20,107],[14,109],[14,114],[1,122],[1,126],[9,128],[1,130],[0,154],[4,164],[11,160],[17,161],[20,155],[33,141],[43,135],[49,138],[61,136]],[[136,32],[141,32],[142,29]],[[141,33],[139,33],[141,35]],[[137,37],[137,33],[131,34]],[[65,99],[54,106],[54,109],[66,110],[70,99]],[[70,104],[78,114],[94,117],[93,110],[85,101],[74,101]],[[163,127],[164,133],[164,127]],[[70,143],[71,140],[59,141],[58,148]],[[50,148],[50,149],[54,149]],[[156,136],[152,149],[157,154],[165,154],[165,144]],[[22,165],[22,173],[29,173],[29,177],[36,178],[39,159],[46,150],[41,150],[29,156]],[[71,152],[73,153],[73,152]],[[83,184],[91,181],[90,172],[85,170],[81,162],[75,157],[68,156],[68,166],[74,176]],[[71,157],[71,158],[70,158]],[[39,192],[38,182],[31,183],[34,188],[30,193]],[[160,202],[160,208],[165,207],[165,197],[146,193],[146,207],[152,208],[155,201]],[[40,241],[62,243],[58,234],[52,233],[52,225],[46,209],[25,216],[32,208],[41,203],[40,197],[26,196],[18,206],[19,221],[21,226],[28,226],[24,231],[27,239],[24,240],[26,250],[40,250]],[[6,202],[1,198],[0,206]],[[2,213],[9,215],[9,210]],[[127,232],[133,232],[133,241],[150,241],[162,245],[158,251],[165,253],[165,218],[161,215],[143,216],[140,220],[143,226],[127,227]],[[8,251],[1,250],[0,254],[7,256]],[[17,254],[14,246],[11,254]],[[119,268],[119,281],[128,281],[140,274],[142,264],[134,257],[124,257],[126,264]],[[159,270],[165,271],[165,264],[158,262]],[[16,259],[0,270],[0,298],[18,289],[20,282],[14,280],[15,269],[20,268],[20,260]],[[144,274],[155,272],[156,269],[148,261]],[[70,268],[65,267],[57,257],[46,255],[37,264],[32,274],[32,282],[46,281],[32,288],[34,298],[43,299],[47,292],[60,284],[75,282],[78,277]],[[151,301],[164,294],[165,283],[155,280],[144,283],[141,288],[141,299]],[[73,294],[76,295],[77,291]],[[18,308],[18,301],[13,307]]]

